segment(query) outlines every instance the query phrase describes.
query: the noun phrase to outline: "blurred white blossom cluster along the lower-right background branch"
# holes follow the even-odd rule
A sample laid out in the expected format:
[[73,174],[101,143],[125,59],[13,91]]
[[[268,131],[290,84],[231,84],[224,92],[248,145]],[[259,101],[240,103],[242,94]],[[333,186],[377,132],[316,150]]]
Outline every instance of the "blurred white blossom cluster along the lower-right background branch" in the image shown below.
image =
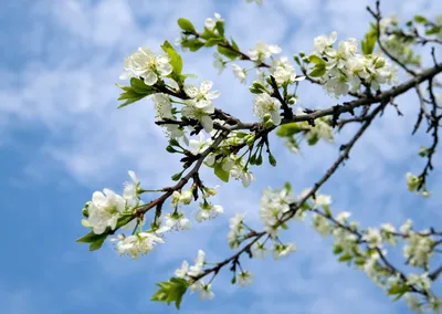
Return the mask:
[[[314,228],[323,237],[327,234],[334,237],[334,253],[339,255],[339,261],[354,262],[357,269],[362,270],[390,295],[399,294],[400,297],[404,294],[407,304],[412,311],[423,313],[425,308],[429,311],[440,308],[441,299],[435,297],[431,292],[432,280],[428,272],[429,260],[433,255],[435,244],[431,232],[429,230],[413,231],[411,220],[407,220],[400,227],[400,232],[397,232],[390,223],[383,223],[380,229],[361,230],[357,222],[349,221],[349,212],[333,217],[329,210],[325,213],[314,210],[312,217]],[[423,273],[404,275],[390,264],[386,264],[387,249],[383,248],[383,242],[396,245],[398,239],[402,239],[406,243],[403,255],[407,263],[424,269]],[[366,245],[365,249],[364,245]],[[415,294],[408,291],[428,295],[429,303],[424,305]]]

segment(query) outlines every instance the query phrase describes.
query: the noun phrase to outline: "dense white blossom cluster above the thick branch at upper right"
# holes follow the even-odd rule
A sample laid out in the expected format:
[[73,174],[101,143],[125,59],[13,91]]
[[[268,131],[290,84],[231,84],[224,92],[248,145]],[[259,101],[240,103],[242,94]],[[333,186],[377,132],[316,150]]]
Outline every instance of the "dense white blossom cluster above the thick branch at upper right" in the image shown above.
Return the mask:
[[315,52],[308,59],[315,64],[311,76],[323,77],[324,88],[330,95],[339,97],[348,92],[356,93],[362,85],[378,91],[381,84],[397,81],[397,69],[385,57],[359,54],[355,39],[340,41],[335,49],[336,40],[336,32],[316,38]]

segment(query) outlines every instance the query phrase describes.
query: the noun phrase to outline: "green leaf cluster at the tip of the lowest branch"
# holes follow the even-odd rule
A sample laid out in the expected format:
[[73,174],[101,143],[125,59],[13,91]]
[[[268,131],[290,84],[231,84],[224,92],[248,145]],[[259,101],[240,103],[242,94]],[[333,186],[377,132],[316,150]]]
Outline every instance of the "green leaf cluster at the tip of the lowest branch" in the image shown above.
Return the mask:
[[175,306],[179,310],[189,283],[180,278],[172,278],[170,281],[157,283],[160,287],[151,297],[151,301],[166,302],[168,305],[175,302]]

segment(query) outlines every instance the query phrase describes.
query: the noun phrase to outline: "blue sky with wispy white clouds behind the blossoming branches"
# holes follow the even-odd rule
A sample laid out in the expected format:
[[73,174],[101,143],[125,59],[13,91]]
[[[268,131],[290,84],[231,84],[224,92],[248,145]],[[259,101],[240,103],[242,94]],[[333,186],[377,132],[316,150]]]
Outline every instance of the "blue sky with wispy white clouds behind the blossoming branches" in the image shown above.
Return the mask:
[[[194,224],[193,230],[171,234],[167,244],[149,257],[133,261],[118,257],[110,244],[90,253],[75,243],[85,230],[81,209],[92,192],[104,187],[122,191],[135,170],[143,186],[170,185],[179,164],[165,151],[166,139],[156,127],[148,101],[117,111],[115,83],[124,57],[140,45],[159,49],[173,41],[176,20],[186,17],[201,27],[220,12],[227,32],[249,49],[257,40],[278,44],[291,56],[309,52],[313,39],[333,30],[340,39],[360,39],[368,28],[365,10],[370,1],[264,0],[263,7],[245,0],[229,1],[25,1],[2,4],[0,38],[0,149],[2,180],[2,258],[0,259],[0,313],[175,313],[173,307],[150,302],[155,283],[170,278],[183,259],[198,249],[209,261],[230,251],[228,219],[246,211],[257,222],[261,191],[291,181],[299,192],[317,180],[337,156],[338,145],[322,144],[301,155],[288,153],[281,140],[272,147],[277,168],[255,169],[257,180],[244,190],[239,182],[221,186],[217,200],[225,214],[217,221]],[[414,12],[433,17],[438,1],[385,1],[386,14],[410,18]],[[246,86],[230,71],[218,76],[211,51],[183,54],[186,72],[212,80],[222,96],[221,108],[252,121]],[[325,107],[335,104],[320,90],[305,84],[299,104]],[[397,100],[404,113],[393,111],[373,125],[351,154],[351,159],[323,192],[334,197],[334,210],[354,212],[364,226],[407,217],[417,226],[440,228],[442,197],[423,200],[407,191],[404,174],[418,172],[417,157],[423,134],[411,137],[417,113],[415,95]],[[337,137],[345,143],[354,129]],[[435,160],[436,167],[441,158]],[[219,184],[203,171],[208,184]],[[442,184],[438,170],[430,188]],[[234,200],[232,202],[232,200]],[[439,226],[436,224],[439,222]],[[284,236],[298,252],[274,262],[244,261],[255,273],[248,289],[230,285],[230,273],[213,284],[215,299],[200,302],[187,295],[182,313],[406,313],[391,303],[364,273],[338,264],[329,240],[308,223],[294,223]]]

